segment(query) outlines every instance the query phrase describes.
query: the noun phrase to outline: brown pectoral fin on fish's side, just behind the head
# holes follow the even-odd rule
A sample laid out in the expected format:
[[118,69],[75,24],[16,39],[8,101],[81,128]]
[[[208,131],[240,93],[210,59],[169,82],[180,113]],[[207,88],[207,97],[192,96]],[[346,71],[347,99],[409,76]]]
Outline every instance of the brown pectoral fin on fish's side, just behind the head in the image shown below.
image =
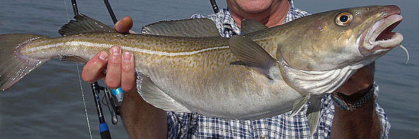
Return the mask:
[[258,43],[244,36],[233,36],[230,38],[229,45],[231,52],[240,59],[244,66],[272,79],[270,68],[277,62]]

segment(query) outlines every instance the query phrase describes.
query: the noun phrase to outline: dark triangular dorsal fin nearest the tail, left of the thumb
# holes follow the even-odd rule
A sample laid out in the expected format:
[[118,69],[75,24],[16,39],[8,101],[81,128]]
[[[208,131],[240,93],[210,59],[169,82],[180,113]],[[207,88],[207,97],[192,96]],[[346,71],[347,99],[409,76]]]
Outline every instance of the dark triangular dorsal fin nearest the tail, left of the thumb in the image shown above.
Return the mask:
[[82,13],[75,15],[74,19],[75,20],[71,20],[70,22],[67,22],[67,24],[64,24],[64,26],[58,30],[58,33],[61,34],[61,36],[95,31],[115,32],[115,30],[108,25]]

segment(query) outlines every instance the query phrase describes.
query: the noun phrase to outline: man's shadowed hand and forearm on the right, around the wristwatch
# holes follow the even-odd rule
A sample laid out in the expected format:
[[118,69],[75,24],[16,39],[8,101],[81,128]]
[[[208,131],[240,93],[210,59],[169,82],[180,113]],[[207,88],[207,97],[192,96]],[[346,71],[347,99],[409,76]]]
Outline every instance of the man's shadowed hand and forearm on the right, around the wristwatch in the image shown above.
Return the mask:
[[[348,95],[345,101],[356,102],[369,91],[373,80],[374,63],[358,69],[337,92]],[[335,104],[330,138],[380,138],[381,119],[374,103],[374,100],[369,100],[355,110],[343,110]]]

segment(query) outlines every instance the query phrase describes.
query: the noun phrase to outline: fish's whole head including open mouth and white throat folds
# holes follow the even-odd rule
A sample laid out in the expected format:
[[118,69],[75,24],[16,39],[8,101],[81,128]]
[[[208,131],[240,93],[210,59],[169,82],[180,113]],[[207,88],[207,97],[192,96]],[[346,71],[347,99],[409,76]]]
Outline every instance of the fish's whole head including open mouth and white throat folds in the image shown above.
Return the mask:
[[281,75],[300,94],[334,92],[359,68],[402,43],[402,34],[391,32],[402,21],[399,14],[397,6],[364,6],[281,25],[277,29],[286,29],[277,49]]

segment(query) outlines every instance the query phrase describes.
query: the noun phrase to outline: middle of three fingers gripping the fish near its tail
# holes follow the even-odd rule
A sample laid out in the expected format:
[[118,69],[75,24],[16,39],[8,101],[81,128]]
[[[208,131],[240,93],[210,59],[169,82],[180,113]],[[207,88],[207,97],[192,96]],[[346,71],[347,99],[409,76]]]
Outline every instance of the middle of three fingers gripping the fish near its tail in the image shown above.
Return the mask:
[[121,85],[121,47],[114,45],[110,47],[109,53],[105,83],[108,87],[116,89]]

